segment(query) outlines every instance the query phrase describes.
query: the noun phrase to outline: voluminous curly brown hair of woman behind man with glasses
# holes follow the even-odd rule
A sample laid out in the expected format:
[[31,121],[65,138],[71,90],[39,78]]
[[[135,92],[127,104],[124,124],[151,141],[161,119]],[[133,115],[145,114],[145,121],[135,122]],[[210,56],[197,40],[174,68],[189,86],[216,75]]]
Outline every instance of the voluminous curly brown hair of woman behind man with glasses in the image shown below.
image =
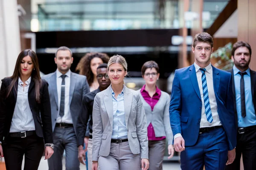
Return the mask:
[[76,71],[79,71],[79,74],[87,77],[89,86],[93,83],[93,72],[90,69],[90,62],[94,57],[102,59],[103,63],[108,63],[109,56],[105,53],[87,53],[82,57],[76,66]]

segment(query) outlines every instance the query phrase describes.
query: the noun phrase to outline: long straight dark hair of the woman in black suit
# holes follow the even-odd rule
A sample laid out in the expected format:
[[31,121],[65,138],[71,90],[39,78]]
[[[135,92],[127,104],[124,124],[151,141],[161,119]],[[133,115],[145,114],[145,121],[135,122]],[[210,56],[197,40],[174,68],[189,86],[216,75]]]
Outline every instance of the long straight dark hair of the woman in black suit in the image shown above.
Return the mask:
[[[34,65],[34,69],[32,70],[32,74],[31,74],[31,80],[33,80],[35,82],[35,99],[38,103],[40,103],[40,88],[41,88],[41,85],[42,85],[42,80],[41,80],[41,77],[40,77],[38,58],[37,58],[35,52],[30,50],[30,49],[23,50],[23,51],[20,52],[20,54],[17,58],[17,61],[16,61],[16,65],[15,65],[13,75],[10,77],[10,78],[12,78],[12,82],[9,85],[9,89],[8,89],[8,93],[7,93],[6,97],[9,96],[9,94],[12,91],[12,88],[14,87],[18,78],[20,77],[20,74],[21,74],[20,63],[21,63],[21,60],[26,56],[31,57],[33,65]],[[17,91],[16,88],[15,88],[15,91]]]

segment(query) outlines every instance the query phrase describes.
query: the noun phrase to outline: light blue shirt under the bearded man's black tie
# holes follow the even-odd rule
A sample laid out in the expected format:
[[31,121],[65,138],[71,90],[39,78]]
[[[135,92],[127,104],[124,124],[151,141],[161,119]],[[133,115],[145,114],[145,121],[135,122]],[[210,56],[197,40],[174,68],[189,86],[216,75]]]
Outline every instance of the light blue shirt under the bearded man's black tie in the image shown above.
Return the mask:
[[241,93],[240,93],[240,80],[241,75],[239,69],[234,65],[234,82],[236,89],[236,111],[238,118],[238,127],[248,127],[256,125],[256,116],[253,105],[253,96],[251,91],[250,69],[248,68],[244,75],[244,94],[245,94],[245,111],[246,116],[243,118],[241,115]]

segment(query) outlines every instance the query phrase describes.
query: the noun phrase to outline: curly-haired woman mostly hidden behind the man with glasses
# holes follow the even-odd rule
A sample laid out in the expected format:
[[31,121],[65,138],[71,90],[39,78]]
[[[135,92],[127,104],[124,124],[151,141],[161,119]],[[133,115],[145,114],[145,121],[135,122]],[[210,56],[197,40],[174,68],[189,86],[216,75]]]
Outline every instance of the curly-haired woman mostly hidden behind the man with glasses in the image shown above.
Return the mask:
[[[102,63],[108,63],[109,57],[105,53],[87,53],[82,57],[76,67],[76,71],[79,74],[87,77],[90,91],[94,91],[99,88],[97,81],[97,67]],[[90,67],[89,67],[90,66]]]

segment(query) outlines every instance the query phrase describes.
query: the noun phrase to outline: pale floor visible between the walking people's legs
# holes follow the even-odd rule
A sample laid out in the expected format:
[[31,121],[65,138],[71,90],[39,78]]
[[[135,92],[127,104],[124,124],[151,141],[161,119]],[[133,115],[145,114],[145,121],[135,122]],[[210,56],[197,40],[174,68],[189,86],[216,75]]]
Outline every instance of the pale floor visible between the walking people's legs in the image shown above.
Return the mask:
[[[44,156],[41,159],[38,170],[48,170],[47,160],[44,160]],[[63,170],[65,170],[65,160],[63,159]],[[80,170],[86,170],[86,167],[81,164]],[[180,164],[177,162],[164,162],[163,170],[180,170]]]

